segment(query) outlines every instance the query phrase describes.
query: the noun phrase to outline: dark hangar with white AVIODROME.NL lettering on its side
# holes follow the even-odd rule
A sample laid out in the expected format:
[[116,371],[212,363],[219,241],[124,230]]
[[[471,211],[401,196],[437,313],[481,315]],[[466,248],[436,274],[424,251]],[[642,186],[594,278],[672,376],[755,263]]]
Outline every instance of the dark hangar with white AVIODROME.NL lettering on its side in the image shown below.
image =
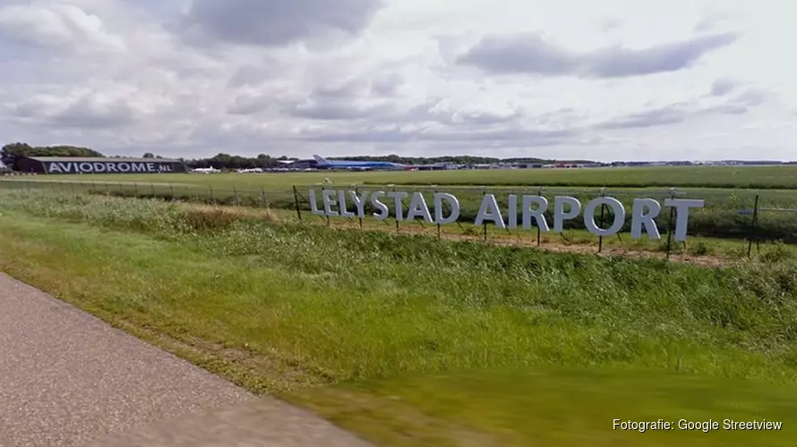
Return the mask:
[[185,173],[185,164],[168,158],[22,156],[21,173]]

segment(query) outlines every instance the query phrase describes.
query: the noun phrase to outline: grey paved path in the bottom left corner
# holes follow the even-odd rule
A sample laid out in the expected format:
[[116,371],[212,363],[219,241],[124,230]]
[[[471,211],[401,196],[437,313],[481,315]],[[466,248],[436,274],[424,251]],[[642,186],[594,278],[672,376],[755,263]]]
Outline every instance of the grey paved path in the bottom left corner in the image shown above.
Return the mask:
[[0,446],[367,447],[0,273]]

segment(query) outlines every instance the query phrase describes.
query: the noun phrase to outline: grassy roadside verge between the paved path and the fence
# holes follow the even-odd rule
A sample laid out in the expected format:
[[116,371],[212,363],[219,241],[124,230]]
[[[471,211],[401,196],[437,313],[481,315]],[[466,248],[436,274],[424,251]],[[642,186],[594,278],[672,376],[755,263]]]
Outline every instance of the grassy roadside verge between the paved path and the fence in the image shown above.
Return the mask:
[[382,445],[797,441],[793,262],[544,255],[134,199],[0,205],[0,270]]

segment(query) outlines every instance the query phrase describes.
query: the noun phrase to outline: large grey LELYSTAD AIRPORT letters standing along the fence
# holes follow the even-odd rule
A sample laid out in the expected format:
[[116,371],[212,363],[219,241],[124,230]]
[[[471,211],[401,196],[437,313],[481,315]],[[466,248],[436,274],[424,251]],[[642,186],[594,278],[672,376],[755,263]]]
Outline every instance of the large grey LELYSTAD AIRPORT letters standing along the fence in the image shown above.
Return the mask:
[[[380,221],[390,216],[391,209],[393,216],[398,221],[409,222],[421,219],[426,223],[449,224],[456,223],[460,215],[458,198],[448,192],[433,194],[434,215],[421,192],[381,190],[358,192],[356,190],[323,189],[321,191],[309,190],[308,194],[313,215],[362,218],[365,217],[367,205],[371,205],[376,210],[372,214],[373,218]],[[404,200],[407,198],[409,198],[409,207],[405,212]],[[349,204],[354,205],[356,211],[351,211]],[[493,194],[485,194],[473,224],[481,226],[484,223],[494,223],[501,229],[515,230],[519,227],[523,230],[530,230],[532,223],[535,223],[541,232],[561,232],[564,229],[565,221],[583,214],[588,232],[597,236],[612,236],[621,231],[627,214],[621,201],[616,198],[594,198],[586,204],[582,204],[578,198],[556,196],[553,198],[553,225],[549,225],[544,215],[551,207],[547,198],[509,194],[507,204],[506,209],[501,209]],[[448,215],[444,215],[445,206],[448,207]],[[602,206],[609,207],[613,212],[613,222],[608,228],[600,228],[595,220],[596,211]],[[664,207],[672,207],[675,210],[675,240],[686,240],[690,209],[703,206],[704,201],[698,199],[667,198],[664,200]],[[658,200],[634,198],[631,207],[630,237],[640,239],[644,229],[650,239],[661,239],[654,220],[661,212],[662,204]]]

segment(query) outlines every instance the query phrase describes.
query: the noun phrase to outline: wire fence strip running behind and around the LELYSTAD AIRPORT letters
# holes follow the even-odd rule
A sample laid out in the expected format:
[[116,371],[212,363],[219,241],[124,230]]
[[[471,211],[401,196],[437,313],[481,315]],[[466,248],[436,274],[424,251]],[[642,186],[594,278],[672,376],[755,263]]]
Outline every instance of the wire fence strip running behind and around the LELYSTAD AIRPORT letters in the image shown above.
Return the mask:
[[[595,188],[501,188],[501,187],[448,187],[448,186],[404,186],[404,185],[356,185],[330,186],[324,184],[296,185],[284,189],[265,189],[253,187],[252,184],[214,185],[200,183],[158,183],[127,181],[44,181],[44,180],[0,180],[0,187],[16,190],[51,190],[72,194],[100,194],[115,197],[159,198],[179,200],[209,205],[233,207],[268,208],[282,219],[292,219],[309,223],[321,223],[341,229],[381,230],[408,234],[433,234],[438,238],[456,238],[463,240],[487,240],[517,245],[538,246],[548,248],[568,246],[584,247],[596,252],[613,252],[618,249],[653,250],[671,254],[707,255],[711,244],[724,244],[734,255],[750,257],[755,249],[761,252],[762,244],[797,244],[797,194],[792,191],[756,191],[756,190],[679,190],[675,188],[661,190],[622,190]],[[364,194],[373,195],[376,191],[390,193],[405,191],[407,198],[398,199],[393,207],[393,199],[385,198],[389,205],[387,218],[378,220],[373,213],[378,211],[373,203],[365,200],[362,214],[353,201],[348,201],[339,211],[345,211],[347,217],[318,215],[322,208],[323,190],[343,191],[344,197],[355,193],[358,197]],[[311,193],[313,191],[313,193]],[[450,224],[436,223],[429,219],[407,219],[410,210],[412,193],[419,192],[430,215],[436,213],[433,196],[444,192],[458,198],[459,213],[455,222]],[[504,210],[504,225],[485,222],[476,226],[484,196],[492,195],[501,210]],[[612,236],[597,236],[587,232],[584,215],[579,214],[564,221],[561,231],[545,231],[536,220],[531,226],[510,229],[510,196],[524,195],[544,197],[553,204],[553,198],[568,196],[577,198],[581,203],[601,197],[616,198],[624,208],[620,231]],[[313,205],[314,196],[316,204]],[[338,197],[336,195],[336,197]],[[664,205],[668,198],[702,199],[705,206],[690,209],[687,225],[688,240],[674,240],[676,228],[674,208],[662,208],[655,222],[661,237],[650,240],[631,239],[632,207],[635,198],[653,198]],[[518,207],[518,199],[511,203]],[[339,204],[336,206],[339,207]],[[553,222],[553,207],[543,213],[547,222]],[[316,213],[313,213],[313,210]],[[441,203],[442,215],[449,215],[450,207]],[[522,210],[521,210],[522,212]],[[341,213],[338,213],[340,215]],[[516,215],[516,219],[517,219]],[[615,223],[612,207],[601,205],[596,209],[595,223],[598,228],[606,228]],[[708,239],[707,239],[708,238]],[[733,247],[730,246],[733,244]]]

